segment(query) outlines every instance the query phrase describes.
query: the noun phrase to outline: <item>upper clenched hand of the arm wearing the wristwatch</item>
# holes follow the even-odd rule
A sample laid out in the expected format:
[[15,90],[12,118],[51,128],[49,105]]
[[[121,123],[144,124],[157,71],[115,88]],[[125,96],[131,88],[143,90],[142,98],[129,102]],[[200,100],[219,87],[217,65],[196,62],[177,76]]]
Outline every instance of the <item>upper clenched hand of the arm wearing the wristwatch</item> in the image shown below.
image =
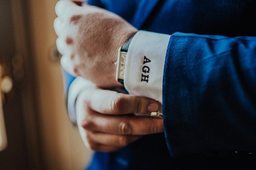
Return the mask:
[[138,30],[116,14],[69,0],[60,0],[55,11],[64,69],[100,87],[122,86],[115,80],[117,50]]

